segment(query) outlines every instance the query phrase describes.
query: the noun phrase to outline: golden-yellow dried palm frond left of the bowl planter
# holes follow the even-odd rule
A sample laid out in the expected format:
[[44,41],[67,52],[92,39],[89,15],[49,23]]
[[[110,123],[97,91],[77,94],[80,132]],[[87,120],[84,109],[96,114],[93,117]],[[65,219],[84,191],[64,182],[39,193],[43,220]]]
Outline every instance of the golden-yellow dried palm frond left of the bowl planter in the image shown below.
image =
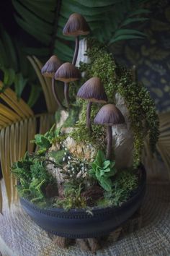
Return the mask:
[[[0,82],[1,88],[3,88],[2,82]],[[48,97],[50,94],[51,92]],[[17,180],[12,176],[10,166],[22,158],[26,151],[35,149],[35,145],[30,144],[30,140],[34,139],[36,133],[45,133],[50,129],[56,108],[50,108],[51,111],[54,111],[53,113],[35,115],[27,103],[22,99],[17,99],[16,93],[10,88],[1,93],[0,98],[2,101],[0,103],[0,161],[6,195],[9,205],[11,205],[17,200]],[[46,99],[49,101],[49,98]],[[50,100],[53,101],[53,98]],[[53,106],[52,103],[51,106]],[[0,211],[1,197],[0,190]]]

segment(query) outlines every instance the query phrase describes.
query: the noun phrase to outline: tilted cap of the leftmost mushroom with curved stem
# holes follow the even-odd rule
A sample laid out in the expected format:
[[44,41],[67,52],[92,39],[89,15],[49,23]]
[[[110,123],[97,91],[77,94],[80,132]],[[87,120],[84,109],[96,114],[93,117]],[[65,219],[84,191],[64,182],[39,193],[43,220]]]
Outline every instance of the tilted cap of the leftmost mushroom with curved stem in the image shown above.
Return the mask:
[[56,55],[53,55],[42,67],[41,73],[45,77],[54,77],[54,74],[59,67],[61,67],[61,61],[58,59]]

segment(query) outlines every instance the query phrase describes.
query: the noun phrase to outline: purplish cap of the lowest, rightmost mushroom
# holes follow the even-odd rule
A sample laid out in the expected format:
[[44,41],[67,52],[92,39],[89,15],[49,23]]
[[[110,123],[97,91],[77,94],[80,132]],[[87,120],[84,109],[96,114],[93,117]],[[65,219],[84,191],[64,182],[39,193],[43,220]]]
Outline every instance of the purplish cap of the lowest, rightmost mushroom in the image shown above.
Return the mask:
[[94,118],[94,123],[112,126],[125,123],[125,119],[115,104],[107,104],[100,108],[97,116]]

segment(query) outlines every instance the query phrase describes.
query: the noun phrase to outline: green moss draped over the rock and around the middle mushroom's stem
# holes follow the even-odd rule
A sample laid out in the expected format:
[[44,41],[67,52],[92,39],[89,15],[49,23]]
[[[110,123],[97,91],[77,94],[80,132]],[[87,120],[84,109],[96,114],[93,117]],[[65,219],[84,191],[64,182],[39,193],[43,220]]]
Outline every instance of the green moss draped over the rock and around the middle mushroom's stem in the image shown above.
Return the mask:
[[[146,132],[149,132],[151,150],[154,151],[158,141],[158,116],[148,90],[142,83],[134,81],[132,72],[128,69],[117,67],[112,54],[107,48],[94,38],[88,39],[88,50],[86,51],[91,62],[81,63],[81,72],[86,72],[84,80],[90,77],[99,77],[104,85],[109,103],[114,103],[115,93],[120,93],[125,99],[130,114],[131,128],[134,135],[134,165],[140,162],[143,149],[143,140]],[[80,103],[81,102],[81,103]],[[71,135],[75,140],[92,142],[97,148],[104,148],[104,127],[93,125],[92,135],[86,129],[86,101],[79,101],[82,106],[81,119],[76,124],[76,130]],[[93,104],[91,108],[91,120],[99,111],[101,104]]]

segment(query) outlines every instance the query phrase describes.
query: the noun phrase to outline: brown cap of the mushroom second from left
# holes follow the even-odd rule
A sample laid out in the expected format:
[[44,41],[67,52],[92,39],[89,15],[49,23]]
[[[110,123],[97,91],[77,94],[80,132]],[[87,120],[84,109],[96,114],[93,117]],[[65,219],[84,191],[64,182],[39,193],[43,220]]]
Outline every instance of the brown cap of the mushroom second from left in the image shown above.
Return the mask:
[[59,67],[55,72],[55,80],[60,80],[62,82],[71,82],[79,80],[81,73],[73,64],[66,62]]

